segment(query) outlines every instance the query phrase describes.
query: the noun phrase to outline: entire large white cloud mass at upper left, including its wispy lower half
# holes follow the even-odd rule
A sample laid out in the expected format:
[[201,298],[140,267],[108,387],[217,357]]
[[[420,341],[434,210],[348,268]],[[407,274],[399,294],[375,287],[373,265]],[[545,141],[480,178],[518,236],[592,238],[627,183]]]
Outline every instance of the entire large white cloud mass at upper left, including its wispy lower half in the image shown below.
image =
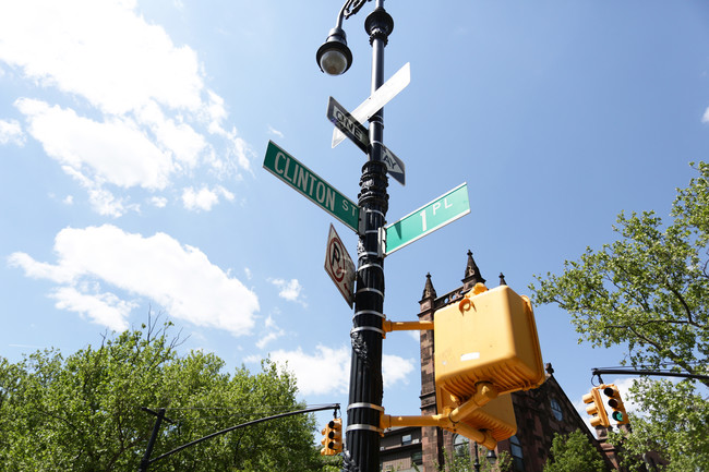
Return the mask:
[[[202,166],[211,178],[238,178],[253,155],[225,125],[224,99],[205,86],[195,51],[135,9],[135,0],[0,2],[0,62],[76,104],[17,99],[28,134],[113,217],[140,209],[127,199],[134,187],[165,189]],[[23,138],[19,126],[0,122],[0,143]]]

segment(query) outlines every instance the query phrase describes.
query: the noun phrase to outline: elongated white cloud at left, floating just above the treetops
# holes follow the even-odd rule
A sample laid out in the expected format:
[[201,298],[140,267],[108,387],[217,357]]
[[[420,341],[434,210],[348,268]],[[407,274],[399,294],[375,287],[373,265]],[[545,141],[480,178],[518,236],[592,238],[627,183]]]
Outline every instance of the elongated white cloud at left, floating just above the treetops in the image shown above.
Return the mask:
[[59,307],[84,313],[105,326],[122,326],[132,305],[101,293],[104,286],[148,298],[171,316],[196,326],[240,336],[254,325],[255,293],[213,265],[199,249],[165,233],[144,238],[110,225],[67,228],[57,234],[55,252],[56,265],[25,253],[12,254],[9,264],[23,268],[28,277],[60,285],[52,294],[61,302]]

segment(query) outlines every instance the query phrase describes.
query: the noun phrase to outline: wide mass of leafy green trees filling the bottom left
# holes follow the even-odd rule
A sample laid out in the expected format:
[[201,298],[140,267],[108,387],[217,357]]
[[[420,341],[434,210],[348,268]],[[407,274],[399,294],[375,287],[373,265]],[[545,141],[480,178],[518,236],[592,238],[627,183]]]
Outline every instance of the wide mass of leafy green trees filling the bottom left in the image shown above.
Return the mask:
[[[167,408],[153,458],[207,434],[302,409],[296,382],[269,361],[232,375],[214,354],[178,355],[179,337],[155,325],[104,337],[64,358],[38,351],[0,359],[3,471],[135,471],[155,417]],[[154,471],[320,470],[312,415],[237,429],[151,465]]]

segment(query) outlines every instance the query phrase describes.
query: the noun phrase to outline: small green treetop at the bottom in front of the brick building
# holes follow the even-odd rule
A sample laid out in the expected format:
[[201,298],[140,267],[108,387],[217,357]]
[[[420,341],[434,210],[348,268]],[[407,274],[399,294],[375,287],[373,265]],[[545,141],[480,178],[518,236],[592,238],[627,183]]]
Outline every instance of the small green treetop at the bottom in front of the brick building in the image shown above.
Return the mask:
[[544,472],[604,472],[608,470],[601,453],[580,431],[567,435],[554,434],[551,458]]

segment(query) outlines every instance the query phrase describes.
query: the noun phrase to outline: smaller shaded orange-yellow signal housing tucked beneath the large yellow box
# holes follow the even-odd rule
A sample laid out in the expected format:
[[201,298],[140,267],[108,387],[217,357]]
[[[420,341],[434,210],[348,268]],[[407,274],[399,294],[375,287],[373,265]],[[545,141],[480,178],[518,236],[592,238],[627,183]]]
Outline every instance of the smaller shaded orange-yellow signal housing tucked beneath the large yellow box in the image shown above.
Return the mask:
[[[448,396],[447,398],[443,399],[443,410],[438,410],[438,412],[442,413],[445,411],[454,410],[457,407],[458,403],[455,402],[450,396]],[[502,395],[497,398],[493,398],[484,406],[472,410],[465,417],[459,420],[458,423],[464,423],[473,429],[489,431],[496,441],[510,438],[517,433],[517,421],[515,419],[515,410],[512,404],[512,396]],[[448,429],[448,427],[446,427],[446,429]],[[465,431],[454,432],[466,436]]]

